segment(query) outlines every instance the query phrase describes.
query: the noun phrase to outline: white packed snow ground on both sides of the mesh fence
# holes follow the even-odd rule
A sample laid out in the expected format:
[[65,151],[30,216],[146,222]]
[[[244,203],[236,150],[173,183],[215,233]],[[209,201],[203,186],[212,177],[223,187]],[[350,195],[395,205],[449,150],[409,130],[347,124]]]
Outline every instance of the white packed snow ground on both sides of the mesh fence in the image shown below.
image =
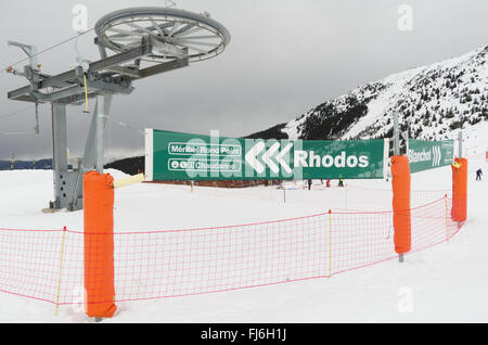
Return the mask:
[[[403,264],[390,260],[330,279],[119,303],[115,317],[103,322],[488,322],[486,158],[468,159],[466,223],[449,243],[407,255]],[[485,174],[480,182],[475,181],[479,167]],[[288,182],[286,191],[196,187],[193,193],[188,186],[137,184],[116,191],[115,231],[229,226],[330,208],[390,209],[390,182],[346,183],[348,188],[341,189],[333,180],[325,189],[314,180],[311,191],[300,182]],[[450,188],[450,167],[412,176],[412,190],[437,190],[441,197]],[[52,171],[0,171],[0,228],[82,229],[82,212],[41,213],[52,197]],[[55,316],[52,304],[3,293],[0,306],[0,322],[93,321],[79,307],[62,306]]]

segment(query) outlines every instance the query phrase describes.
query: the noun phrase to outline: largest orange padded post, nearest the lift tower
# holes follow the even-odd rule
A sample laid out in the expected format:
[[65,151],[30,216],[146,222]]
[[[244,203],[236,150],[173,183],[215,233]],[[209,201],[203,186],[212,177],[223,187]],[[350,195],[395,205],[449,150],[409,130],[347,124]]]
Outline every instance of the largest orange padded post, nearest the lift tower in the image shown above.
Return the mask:
[[111,318],[114,286],[114,178],[98,171],[84,176],[85,289],[87,315]]

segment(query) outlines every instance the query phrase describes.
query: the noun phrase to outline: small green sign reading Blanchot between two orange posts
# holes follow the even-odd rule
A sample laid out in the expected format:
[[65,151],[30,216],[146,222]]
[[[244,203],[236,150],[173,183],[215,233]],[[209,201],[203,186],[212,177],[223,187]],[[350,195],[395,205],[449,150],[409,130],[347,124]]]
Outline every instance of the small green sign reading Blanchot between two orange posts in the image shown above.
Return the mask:
[[409,139],[408,155],[411,173],[451,165],[454,158],[454,141]]

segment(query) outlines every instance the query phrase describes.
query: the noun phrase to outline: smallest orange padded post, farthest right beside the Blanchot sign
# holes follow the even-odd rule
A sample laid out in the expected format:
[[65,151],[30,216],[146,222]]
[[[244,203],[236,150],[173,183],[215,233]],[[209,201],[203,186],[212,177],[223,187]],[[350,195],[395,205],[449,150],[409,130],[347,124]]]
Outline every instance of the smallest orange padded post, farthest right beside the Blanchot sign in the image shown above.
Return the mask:
[[454,158],[452,168],[452,209],[453,221],[467,218],[467,159]]

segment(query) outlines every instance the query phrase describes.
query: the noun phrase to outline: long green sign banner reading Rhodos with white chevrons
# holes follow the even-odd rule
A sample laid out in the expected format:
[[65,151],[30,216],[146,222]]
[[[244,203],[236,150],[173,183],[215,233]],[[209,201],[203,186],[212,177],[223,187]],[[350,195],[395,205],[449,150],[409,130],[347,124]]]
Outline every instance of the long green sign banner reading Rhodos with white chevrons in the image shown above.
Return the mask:
[[145,130],[146,180],[381,179],[383,139],[235,139]]

